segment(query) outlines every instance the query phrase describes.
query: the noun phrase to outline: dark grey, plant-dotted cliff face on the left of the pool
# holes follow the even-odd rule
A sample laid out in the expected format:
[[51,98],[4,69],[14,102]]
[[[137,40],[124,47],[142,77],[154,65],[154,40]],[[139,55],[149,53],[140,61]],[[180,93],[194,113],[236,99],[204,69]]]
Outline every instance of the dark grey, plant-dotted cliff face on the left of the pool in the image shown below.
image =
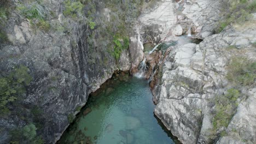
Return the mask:
[[[42,28],[38,24],[41,19],[31,19],[20,11],[23,7],[39,7],[38,3],[20,2],[11,2],[13,11],[9,11],[5,25],[1,26],[9,41],[0,44],[0,78],[24,65],[32,81],[26,86],[26,93],[6,105],[9,113],[0,118],[0,143],[8,143],[12,140],[10,131],[18,131],[28,123],[36,125],[37,135],[45,143],[53,143],[85,105],[91,92],[115,70],[127,71],[131,65],[136,68],[141,61],[133,63],[137,57],[130,56],[130,53],[143,55],[137,52],[142,47],[137,46],[139,39],[136,29],[132,29],[141,3],[86,1],[82,3],[83,11],[73,11],[75,16],[72,16],[63,15],[70,6],[67,1],[42,1],[40,8],[50,13],[42,20],[49,25]],[[121,49],[114,43],[115,40],[124,45],[124,39],[129,42],[129,37],[130,47]],[[113,47],[122,52],[115,53]],[[120,58],[115,58],[116,54]]]

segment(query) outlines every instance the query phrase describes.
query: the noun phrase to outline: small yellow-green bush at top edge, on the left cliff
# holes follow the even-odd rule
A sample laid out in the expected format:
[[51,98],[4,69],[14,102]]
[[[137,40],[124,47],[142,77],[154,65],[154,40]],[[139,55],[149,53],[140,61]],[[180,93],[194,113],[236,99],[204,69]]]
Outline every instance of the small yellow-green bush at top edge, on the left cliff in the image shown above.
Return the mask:
[[73,18],[82,16],[84,5],[81,2],[71,2],[70,0],[64,1],[65,10],[63,14],[65,16],[71,16]]

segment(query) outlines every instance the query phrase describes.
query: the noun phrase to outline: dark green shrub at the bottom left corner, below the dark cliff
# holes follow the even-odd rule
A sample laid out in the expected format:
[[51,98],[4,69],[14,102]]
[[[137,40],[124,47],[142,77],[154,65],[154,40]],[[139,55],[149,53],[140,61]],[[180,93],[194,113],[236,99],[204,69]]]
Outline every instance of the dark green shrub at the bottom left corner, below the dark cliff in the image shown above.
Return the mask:
[[32,143],[43,144],[41,137],[37,136],[37,127],[33,123],[25,125],[23,128],[16,128],[10,132],[10,143]]

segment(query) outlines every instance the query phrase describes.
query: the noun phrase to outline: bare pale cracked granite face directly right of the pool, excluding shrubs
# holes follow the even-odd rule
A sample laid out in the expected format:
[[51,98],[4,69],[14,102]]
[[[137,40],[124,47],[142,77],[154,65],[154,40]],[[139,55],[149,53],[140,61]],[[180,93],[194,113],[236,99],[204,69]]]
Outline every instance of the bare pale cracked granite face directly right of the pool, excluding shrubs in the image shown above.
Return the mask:
[[[255,33],[255,26],[245,25],[211,35],[200,44],[172,47],[162,68],[161,83],[154,90],[155,114],[182,143],[212,142],[212,99],[230,88],[226,65],[231,57],[255,61]],[[247,43],[241,43],[243,39]],[[237,48],[230,50],[230,45]],[[255,143],[254,91],[255,86],[242,92],[248,93],[248,98],[238,105],[226,136],[220,136],[217,143]]]

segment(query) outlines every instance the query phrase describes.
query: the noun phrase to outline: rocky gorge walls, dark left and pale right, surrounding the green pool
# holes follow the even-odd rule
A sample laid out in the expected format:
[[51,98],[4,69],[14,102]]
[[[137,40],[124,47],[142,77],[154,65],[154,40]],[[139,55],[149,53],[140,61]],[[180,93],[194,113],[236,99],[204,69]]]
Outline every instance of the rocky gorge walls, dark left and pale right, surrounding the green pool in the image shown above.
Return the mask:
[[[141,62],[154,113],[179,141],[256,143],[254,13],[217,33],[222,1],[79,3],[83,11],[68,1],[11,1],[15,10],[1,17],[0,76],[24,65],[31,81],[5,114],[1,105],[0,143],[18,141],[14,132],[31,123],[34,140],[20,143],[55,143],[91,92],[115,71],[138,73]],[[31,5],[42,6],[44,21],[20,11]],[[26,84],[25,72],[15,75]]]

